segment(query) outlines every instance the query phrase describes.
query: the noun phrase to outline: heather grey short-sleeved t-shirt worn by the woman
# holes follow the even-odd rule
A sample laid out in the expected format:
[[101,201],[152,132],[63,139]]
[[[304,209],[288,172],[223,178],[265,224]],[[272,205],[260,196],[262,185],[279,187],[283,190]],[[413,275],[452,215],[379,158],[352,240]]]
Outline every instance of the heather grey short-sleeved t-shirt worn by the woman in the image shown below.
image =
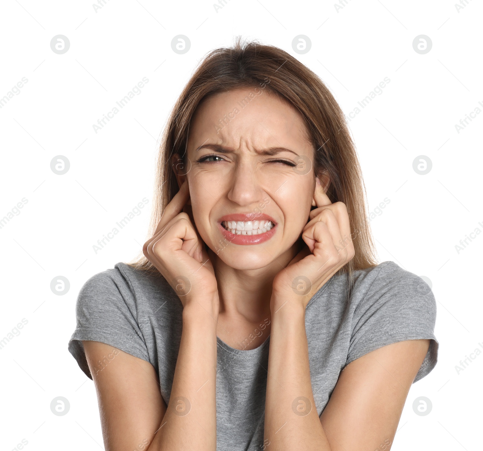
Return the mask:
[[[403,340],[430,339],[414,382],[426,376],[438,358],[436,301],[420,277],[393,261],[384,261],[356,271],[349,288],[346,275],[334,275],[315,293],[305,312],[319,416],[341,370],[370,351]],[[181,301],[162,276],[149,276],[117,263],[114,269],[92,276],[81,288],[69,351],[91,379],[82,340],[106,343],[150,362],[168,404],[181,341],[182,310]],[[263,324],[254,335],[267,334]],[[217,450],[263,449],[269,342],[270,336],[255,349],[238,350],[217,338]]]

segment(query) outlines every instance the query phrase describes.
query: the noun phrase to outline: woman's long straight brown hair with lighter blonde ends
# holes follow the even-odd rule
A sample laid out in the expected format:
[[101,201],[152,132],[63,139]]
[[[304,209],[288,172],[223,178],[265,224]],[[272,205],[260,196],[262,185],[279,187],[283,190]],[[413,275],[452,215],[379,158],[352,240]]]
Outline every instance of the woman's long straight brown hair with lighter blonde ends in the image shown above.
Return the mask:
[[[240,37],[233,47],[215,49],[204,58],[171,111],[159,147],[148,238],[179,190],[171,156],[183,156],[183,167],[187,167],[186,143],[196,108],[207,96],[240,87],[268,89],[287,100],[305,119],[314,149],[315,175],[328,174],[330,201],[343,202],[349,214],[355,256],[339,273],[348,273],[352,279],[353,271],[376,266],[362,173],[345,116],[334,96],[315,73],[284,50],[241,41]],[[142,251],[128,265],[157,273]]]

